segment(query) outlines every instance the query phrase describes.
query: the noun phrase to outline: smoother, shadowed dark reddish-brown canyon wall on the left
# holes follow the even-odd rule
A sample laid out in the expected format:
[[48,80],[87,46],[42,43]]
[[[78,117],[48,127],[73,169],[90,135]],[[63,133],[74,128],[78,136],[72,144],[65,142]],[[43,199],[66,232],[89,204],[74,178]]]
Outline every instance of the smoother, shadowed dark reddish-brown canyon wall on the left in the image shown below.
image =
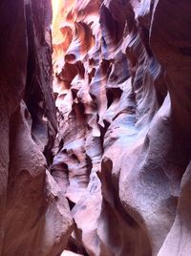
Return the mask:
[[0,255],[53,256],[73,220],[49,171],[57,129],[51,2],[2,0],[0,21]]

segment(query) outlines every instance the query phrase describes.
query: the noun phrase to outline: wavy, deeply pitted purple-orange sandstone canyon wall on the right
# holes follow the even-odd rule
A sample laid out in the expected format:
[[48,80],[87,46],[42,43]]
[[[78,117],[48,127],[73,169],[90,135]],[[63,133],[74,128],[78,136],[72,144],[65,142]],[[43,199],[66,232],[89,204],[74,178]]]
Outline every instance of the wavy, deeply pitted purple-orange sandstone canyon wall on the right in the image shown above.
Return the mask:
[[53,1],[51,173],[82,255],[191,255],[188,0]]

